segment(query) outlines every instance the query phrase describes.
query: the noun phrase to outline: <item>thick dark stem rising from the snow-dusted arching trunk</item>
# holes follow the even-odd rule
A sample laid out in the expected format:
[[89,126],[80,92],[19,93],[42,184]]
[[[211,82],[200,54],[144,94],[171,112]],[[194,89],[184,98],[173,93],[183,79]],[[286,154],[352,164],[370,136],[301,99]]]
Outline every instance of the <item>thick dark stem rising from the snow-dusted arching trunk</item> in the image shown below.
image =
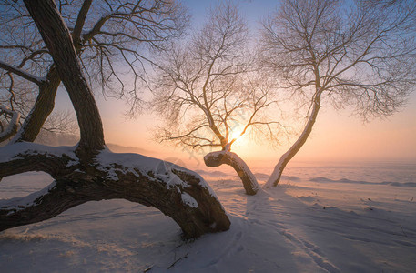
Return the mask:
[[96,101],[82,73],[72,37],[54,1],[24,2],[54,59],[58,75],[74,106],[81,132],[77,152],[87,159],[104,148],[104,133]]

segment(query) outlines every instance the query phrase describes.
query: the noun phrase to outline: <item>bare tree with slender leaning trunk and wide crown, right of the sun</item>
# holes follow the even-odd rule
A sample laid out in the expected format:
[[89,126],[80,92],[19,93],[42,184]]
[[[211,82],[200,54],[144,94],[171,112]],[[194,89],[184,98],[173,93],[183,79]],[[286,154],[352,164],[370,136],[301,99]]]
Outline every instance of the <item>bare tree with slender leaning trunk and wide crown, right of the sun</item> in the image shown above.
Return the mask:
[[413,1],[284,0],[264,22],[263,64],[281,88],[309,101],[303,132],[267,186],[279,183],[322,104],[353,106],[364,121],[405,104],[416,78],[415,7]]

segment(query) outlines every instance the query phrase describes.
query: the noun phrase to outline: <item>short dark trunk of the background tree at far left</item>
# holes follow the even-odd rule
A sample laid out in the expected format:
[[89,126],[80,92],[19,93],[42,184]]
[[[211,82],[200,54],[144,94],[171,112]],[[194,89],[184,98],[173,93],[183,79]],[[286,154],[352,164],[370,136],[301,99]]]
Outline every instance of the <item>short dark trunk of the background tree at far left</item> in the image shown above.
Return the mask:
[[39,94],[30,114],[25,118],[19,132],[9,144],[35,141],[36,136],[45,124],[46,118],[54,110],[56,91],[60,82],[56,68],[52,67],[46,75],[46,81],[39,86]]

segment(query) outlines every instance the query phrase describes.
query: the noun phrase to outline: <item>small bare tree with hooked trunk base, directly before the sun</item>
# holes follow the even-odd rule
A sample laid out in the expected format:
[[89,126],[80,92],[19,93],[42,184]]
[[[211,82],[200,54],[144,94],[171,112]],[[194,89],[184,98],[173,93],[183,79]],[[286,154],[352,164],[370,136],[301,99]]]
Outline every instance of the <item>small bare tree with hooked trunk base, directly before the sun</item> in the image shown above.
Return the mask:
[[206,165],[233,167],[246,193],[254,195],[258,182],[231,147],[249,132],[276,140],[279,123],[266,115],[275,103],[272,85],[254,68],[248,35],[237,6],[212,8],[188,42],[161,57],[153,106],[166,119],[158,139],[192,149],[217,147],[204,157]]

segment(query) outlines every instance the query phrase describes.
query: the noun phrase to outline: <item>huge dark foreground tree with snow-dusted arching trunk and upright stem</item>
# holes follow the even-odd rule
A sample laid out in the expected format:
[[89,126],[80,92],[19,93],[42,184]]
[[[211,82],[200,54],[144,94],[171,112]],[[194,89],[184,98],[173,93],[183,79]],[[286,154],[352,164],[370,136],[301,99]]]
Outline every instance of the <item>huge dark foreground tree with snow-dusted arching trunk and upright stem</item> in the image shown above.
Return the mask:
[[32,195],[2,200],[0,230],[55,217],[90,200],[112,198],[156,207],[188,237],[227,230],[224,208],[202,177],[158,159],[106,149],[96,101],[55,1],[27,0],[25,6],[75,108],[81,139],[75,148],[27,142],[0,148],[0,178],[26,171],[44,171],[55,178]]

